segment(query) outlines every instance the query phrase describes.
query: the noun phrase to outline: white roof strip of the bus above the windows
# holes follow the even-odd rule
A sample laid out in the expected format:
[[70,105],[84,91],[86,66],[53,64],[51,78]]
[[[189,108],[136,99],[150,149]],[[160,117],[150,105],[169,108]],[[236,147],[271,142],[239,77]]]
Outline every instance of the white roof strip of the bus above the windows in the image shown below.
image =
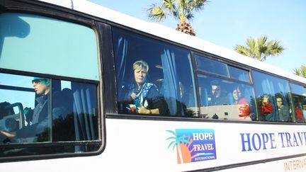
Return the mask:
[[291,74],[288,71],[275,67],[271,64],[267,64],[264,62],[260,62],[259,60],[256,60],[256,59],[246,57],[244,55],[241,55],[235,52],[234,50],[229,50],[225,47],[215,45],[211,42],[202,40],[195,36],[181,33],[177,30],[168,28],[164,25],[160,25],[158,23],[149,23],[147,21],[142,21],[138,18],[128,16],[124,13],[113,11],[110,8],[106,8],[104,6],[94,4],[90,1],[85,1],[85,0],[74,0],[74,1],[73,0],[40,0],[40,1],[45,1],[51,4],[56,4],[58,6],[64,6],[66,8],[70,8],[75,11],[80,11],[82,13],[87,13],[91,16],[103,18],[107,21],[118,23],[120,25],[125,25],[129,28],[134,28],[135,30],[140,30],[144,33],[156,35],[159,38],[164,38],[166,40],[178,42],[181,45],[186,45],[188,47],[193,47],[197,50],[201,50],[204,52],[211,53],[213,55],[224,57],[225,59],[230,59],[240,64],[245,64],[249,67],[254,67],[256,69],[268,71],[272,74],[284,76],[288,79],[293,79],[295,81],[306,83],[306,79],[300,76],[297,76],[295,74]]

